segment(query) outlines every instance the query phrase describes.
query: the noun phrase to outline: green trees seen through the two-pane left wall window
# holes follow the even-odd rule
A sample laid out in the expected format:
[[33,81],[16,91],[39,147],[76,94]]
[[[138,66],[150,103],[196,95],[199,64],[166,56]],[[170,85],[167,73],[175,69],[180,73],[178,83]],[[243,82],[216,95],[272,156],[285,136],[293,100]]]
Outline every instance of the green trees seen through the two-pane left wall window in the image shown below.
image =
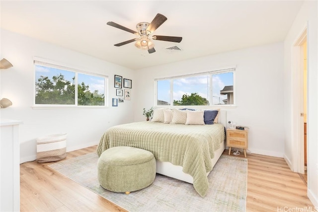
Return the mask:
[[[40,76],[35,83],[35,104],[75,104],[75,77],[66,80],[63,74]],[[104,94],[98,90],[91,92],[84,82],[78,84],[78,105],[104,105]]]

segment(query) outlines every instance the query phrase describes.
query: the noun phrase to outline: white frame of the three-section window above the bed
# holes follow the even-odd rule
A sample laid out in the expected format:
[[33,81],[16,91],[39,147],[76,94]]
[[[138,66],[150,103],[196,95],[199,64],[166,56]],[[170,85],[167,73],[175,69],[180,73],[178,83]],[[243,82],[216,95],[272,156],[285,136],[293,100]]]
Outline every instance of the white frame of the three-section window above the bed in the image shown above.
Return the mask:
[[[233,104],[210,104],[210,105],[172,105],[173,104],[173,79],[181,79],[181,78],[186,78],[186,77],[193,77],[193,76],[200,76],[200,75],[208,75],[209,77],[209,82],[208,82],[208,89],[209,89],[209,96],[208,96],[208,101],[213,103],[213,90],[212,90],[212,76],[215,74],[220,74],[220,73],[227,73],[227,72],[233,72]],[[170,80],[170,105],[158,105],[158,81],[159,80]],[[169,76],[169,77],[160,77],[160,78],[155,78],[155,107],[192,107],[192,108],[222,108],[222,107],[236,107],[236,66],[229,66],[229,67],[224,67],[224,68],[217,68],[213,69],[210,71],[203,71],[203,72],[197,72],[197,73],[190,73],[190,74],[183,74],[183,75],[176,75],[176,76]]]

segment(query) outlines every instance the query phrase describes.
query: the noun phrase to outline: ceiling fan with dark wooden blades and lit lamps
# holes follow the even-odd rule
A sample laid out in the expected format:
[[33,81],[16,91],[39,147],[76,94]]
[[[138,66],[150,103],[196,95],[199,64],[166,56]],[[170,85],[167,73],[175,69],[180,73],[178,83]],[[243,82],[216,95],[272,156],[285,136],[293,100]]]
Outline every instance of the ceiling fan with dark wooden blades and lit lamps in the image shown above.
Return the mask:
[[128,41],[124,41],[118,44],[115,44],[114,46],[123,46],[125,44],[132,43],[136,41],[135,46],[139,49],[148,50],[149,54],[156,52],[154,46],[155,44],[151,41],[153,40],[160,40],[160,41],[170,41],[170,42],[177,42],[180,43],[182,40],[182,37],[173,37],[173,36],[163,36],[163,35],[153,35],[151,34],[159,27],[161,26],[164,21],[166,21],[167,18],[158,13],[154,20],[151,23],[148,22],[141,22],[136,25],[137,32],[131,29],[128,29],[122,25],[119,25],[117,23],[114,23],[112,21],[107,22],[107,25],[116,27],[118,29],[122,29],[124,31],[133,33],[139,38],[134,38]]

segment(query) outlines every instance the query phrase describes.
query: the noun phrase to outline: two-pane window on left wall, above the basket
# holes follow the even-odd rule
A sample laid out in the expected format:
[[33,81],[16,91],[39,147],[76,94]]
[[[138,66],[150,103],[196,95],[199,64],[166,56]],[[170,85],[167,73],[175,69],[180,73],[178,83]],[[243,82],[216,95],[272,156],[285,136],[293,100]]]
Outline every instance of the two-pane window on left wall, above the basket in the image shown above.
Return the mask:
[[[105,106],[107,76],[34,61],[35,105]],[[77,86],[75,86],[77,84]]]

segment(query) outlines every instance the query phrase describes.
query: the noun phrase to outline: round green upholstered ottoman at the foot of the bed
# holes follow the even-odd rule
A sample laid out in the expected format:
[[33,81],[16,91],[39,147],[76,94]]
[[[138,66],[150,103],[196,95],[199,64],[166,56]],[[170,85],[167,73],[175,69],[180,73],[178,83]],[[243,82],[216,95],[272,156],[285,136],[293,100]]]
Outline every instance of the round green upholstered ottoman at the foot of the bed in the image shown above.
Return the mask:
[[150,151],[117,146],[105,150],[97,162],[99,184],[112,192],[129,194],[150,186],[156,177],[156,159]]

